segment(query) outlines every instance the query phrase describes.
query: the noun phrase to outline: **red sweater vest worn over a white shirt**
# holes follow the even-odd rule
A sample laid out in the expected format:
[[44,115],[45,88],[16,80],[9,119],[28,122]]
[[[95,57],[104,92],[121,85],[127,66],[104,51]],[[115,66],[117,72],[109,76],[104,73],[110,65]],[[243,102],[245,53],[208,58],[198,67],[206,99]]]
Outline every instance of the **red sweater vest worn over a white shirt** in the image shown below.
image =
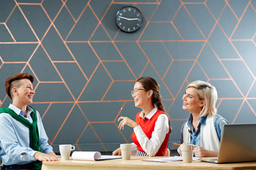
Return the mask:
[[[146,119],[145,121],[144,121],[144,119],[141,116],[139,116],[139,114],[140,114],[140,112],[138,112],[138,114],[137,114],[137,116],[135,118],[135,121],[143,129],[144,134],[150,139],[151,135],[152,135],[152,132],[155,129],[155,124],[157,122],[158,116],[161,115],[161,114],[166,114],[166,113],[164,113],[162,110],[157,110],[157,112],[154,114],[154,116],[152,116],[150,119]],[[169,125],[170,125],[170,121],[169,121]],[[167,149],[167,146],[168,146],[169,135],[170,135],[170,129],[169,129],[168,134],[166,134],[161,147],[157,151],[156,156],[164,156],[164,154],[166,152],[166,149]],[[140,152],[144,152],[145,153],[143,148],[141,148],[141,146],[139,145],[139,142],[138,142],[137,137],[136,137],[134,132],[132,134],[132,141],[137,145],[137,149]]]

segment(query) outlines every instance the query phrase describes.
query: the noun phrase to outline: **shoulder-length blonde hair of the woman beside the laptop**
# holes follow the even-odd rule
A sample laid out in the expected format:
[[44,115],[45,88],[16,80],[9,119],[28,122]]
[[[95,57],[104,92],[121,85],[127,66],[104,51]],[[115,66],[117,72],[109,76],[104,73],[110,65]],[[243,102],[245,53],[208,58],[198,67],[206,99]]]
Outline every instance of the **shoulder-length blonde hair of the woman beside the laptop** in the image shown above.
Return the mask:
[[217,112],[216,102],[218,98],[217,91],[214,85],[211,85],[202,80],[196,80],[190,83],[186,89],[189,87],[195,87],[198,89],[198,97],[200,100],[205,99],[206,104],[202,106],[202,110],[199,113],[199,117],[202,116],[212,116]]

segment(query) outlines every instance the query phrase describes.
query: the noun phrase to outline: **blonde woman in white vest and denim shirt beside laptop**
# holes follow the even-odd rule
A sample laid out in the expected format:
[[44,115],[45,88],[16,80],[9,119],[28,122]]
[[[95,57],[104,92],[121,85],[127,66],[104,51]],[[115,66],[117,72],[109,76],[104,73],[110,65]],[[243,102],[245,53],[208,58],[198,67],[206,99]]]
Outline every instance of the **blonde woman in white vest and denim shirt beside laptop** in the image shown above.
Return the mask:
[[[217,98],[215,87],[201,80],[190,83],[182,97],[182,109],[190,115],[182,125],[181,143],[194,144],[196,157],[218,156],[222,128],[227,120],[216,114]],[[181,148],[177,151],[182,155]]]

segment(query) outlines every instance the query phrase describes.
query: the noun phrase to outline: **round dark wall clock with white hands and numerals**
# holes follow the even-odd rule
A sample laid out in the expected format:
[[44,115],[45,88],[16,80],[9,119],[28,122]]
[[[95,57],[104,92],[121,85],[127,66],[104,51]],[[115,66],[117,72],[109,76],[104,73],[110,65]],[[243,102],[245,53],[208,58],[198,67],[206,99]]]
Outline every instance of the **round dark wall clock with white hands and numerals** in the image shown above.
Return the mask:
[[142,26],[142,15],[139,9],[133,6],[125,6],[116,14],[118,28],[126,33],[132,33]]

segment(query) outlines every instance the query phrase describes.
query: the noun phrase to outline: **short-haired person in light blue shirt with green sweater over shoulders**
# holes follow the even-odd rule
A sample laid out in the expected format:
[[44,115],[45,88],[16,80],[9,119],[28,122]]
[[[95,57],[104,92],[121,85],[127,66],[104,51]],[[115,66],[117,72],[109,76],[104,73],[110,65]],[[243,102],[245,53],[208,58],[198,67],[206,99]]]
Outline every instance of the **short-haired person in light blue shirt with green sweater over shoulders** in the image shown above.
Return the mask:
[[38,111],[32,104],[34,78],[17,73],[5,81],[5,90],[12,99],[9,108],[0,109],[0,160],[5,169],[41,169],[40,161],[58,161],[48,144],[48,136]]

